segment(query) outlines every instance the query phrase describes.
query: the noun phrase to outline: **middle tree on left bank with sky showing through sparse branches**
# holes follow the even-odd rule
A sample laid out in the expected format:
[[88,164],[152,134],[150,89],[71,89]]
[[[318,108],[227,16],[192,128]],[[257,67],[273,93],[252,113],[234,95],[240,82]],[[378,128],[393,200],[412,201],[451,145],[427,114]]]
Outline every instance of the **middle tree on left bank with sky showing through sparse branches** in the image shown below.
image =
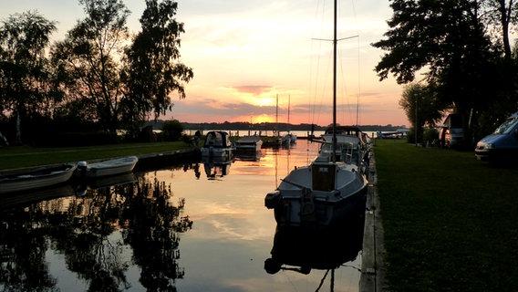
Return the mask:
[[95,109],[103,130],[119,125],[122,52],[129,39],[129,10],[121,0],[79,0],[87,17],[57,43],[53,60],[67,73],[67,94]]

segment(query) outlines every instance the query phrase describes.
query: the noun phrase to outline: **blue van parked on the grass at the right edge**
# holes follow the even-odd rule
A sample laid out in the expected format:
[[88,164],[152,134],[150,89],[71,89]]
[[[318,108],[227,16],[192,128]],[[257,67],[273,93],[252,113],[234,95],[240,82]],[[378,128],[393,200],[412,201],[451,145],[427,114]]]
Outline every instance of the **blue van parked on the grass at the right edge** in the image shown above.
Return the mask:
[[482,161],[501,162],[518,159],[518,111],[477,143],[475,157]]

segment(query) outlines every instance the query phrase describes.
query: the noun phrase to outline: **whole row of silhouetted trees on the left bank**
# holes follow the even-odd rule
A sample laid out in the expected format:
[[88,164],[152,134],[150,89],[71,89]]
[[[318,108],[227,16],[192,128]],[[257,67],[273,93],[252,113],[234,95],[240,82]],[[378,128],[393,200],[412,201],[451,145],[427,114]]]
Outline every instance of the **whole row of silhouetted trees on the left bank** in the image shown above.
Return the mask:
[[56,22],[36,11],[0,23],[0,130],[16,144],[78,132],[106,141],[117,130],[136,139],[152,115],[171,110],[173,92],[185,98],[193,72],[179,61],[176,2],[146,0],[136,35],[122,0],[79,4],[85,17],[53,44]]

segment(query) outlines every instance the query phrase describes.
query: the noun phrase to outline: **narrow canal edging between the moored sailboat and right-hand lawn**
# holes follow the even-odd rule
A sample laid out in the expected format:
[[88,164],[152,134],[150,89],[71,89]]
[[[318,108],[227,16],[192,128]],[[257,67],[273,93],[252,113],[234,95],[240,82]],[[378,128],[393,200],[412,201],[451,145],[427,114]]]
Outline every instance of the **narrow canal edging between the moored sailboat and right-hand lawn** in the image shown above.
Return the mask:
[[378,197],[378,174],[376,172],[376,159],[374,153],[372,153],[368,173],[359,292],[381,292],[386,288],[384,256],[383,225]]

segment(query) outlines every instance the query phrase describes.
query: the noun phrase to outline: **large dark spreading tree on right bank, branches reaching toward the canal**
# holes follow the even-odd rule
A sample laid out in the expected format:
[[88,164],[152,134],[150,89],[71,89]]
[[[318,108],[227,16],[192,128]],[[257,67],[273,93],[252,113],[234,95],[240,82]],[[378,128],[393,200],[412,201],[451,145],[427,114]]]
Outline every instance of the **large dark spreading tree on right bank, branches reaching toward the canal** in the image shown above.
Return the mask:
[[388,51],[376,66],[380,79],[392,73],[404,84],[424,72],[437,99],[466,122],[473,110],[497,101],[487,97],[494,95],[490,85],[499,76],[499,55],[485,35],[479,2],[393,0],[390,6],[387,38],[373,44]]

